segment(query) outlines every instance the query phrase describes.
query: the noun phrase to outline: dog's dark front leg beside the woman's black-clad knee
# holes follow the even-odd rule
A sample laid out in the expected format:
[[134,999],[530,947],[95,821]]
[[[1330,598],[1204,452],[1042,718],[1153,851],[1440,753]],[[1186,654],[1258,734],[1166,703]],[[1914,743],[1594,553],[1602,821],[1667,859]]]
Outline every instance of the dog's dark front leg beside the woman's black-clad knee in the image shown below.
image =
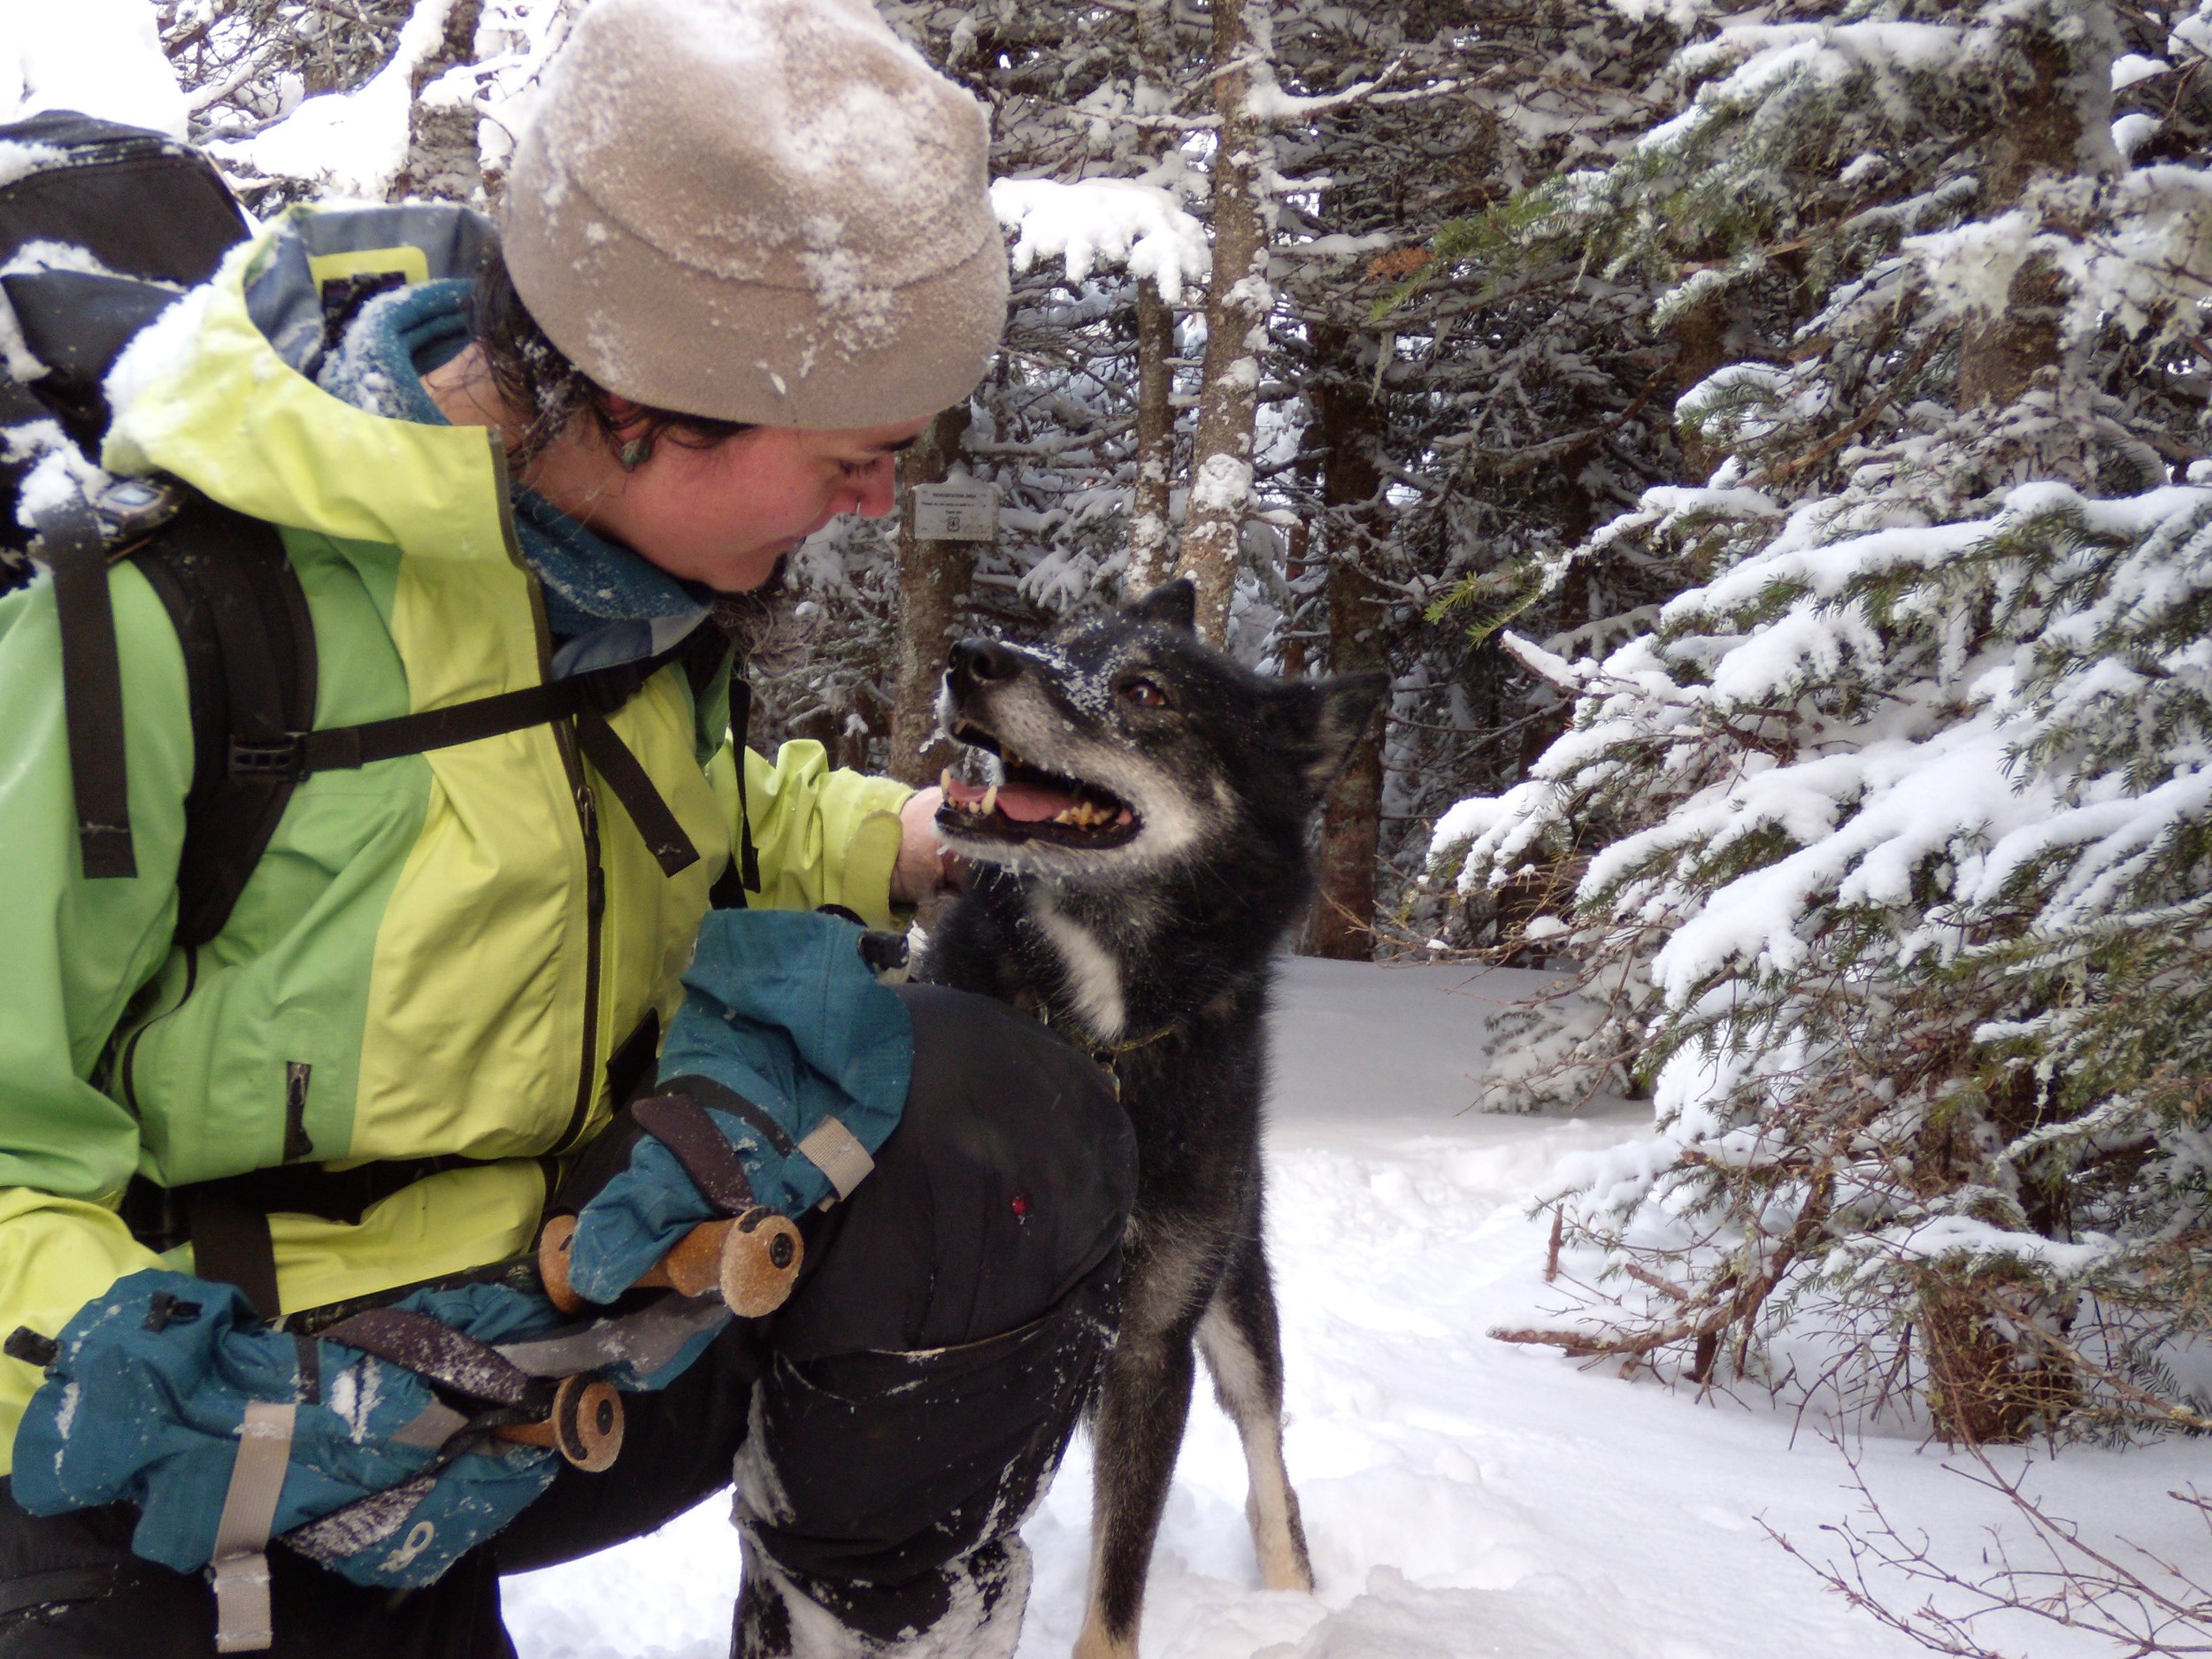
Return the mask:
[[1168,1504],[1175,1453],[1190,1418],[1197,1360],[1190,1349],[1194,1318],[1144,1318],[1139,1279],[1106,1360],[1099,1413],[1091,1429],[1091,1597],[1075,1659],[1137,1659],[1137,1621],[1152,1540]]

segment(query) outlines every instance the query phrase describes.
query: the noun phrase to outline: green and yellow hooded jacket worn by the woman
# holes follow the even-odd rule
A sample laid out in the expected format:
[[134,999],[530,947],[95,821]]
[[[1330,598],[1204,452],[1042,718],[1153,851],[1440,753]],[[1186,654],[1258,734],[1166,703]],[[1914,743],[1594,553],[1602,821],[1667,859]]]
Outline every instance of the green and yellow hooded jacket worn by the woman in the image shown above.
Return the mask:
[[[493,434],[341,403],[272,338],[285,319],[263,296],[283,261],[361,270],[345,261],[407,223],[294,210],[170,307],[111,380],[111,469],[173,473],[281,526],[314,624],[319,728],[549,675]],[[358,1225],[272,1217],[288,1312],[524,1250],[553,1157],[608,1121],[606,1057],[648,1011],[664,1029],[675,1013],[730,860],[739,763],[757,902],[889,920],[907,790],[830,770],[816,743],[774,763],[732,752],[726,712],[695,706],[668,668],[613,726],[701,852],[679,876],[661,874],[566,728],[540,726],[305,779],[223,931],[175,949],[192,779],[184,657],[128,562],[111,593],[131,880],[82,876],[51,586],[0,597],[0,1332],[58,1332],[139,1267],[190,1270],[188,1245],[161,1259],[131,1237],[124,1186],[276,1166],[288,1117],[292,1150],[303,1133],[319,1164],[482,1159]],[[38,1380],[0,1360],[0,1449]]]

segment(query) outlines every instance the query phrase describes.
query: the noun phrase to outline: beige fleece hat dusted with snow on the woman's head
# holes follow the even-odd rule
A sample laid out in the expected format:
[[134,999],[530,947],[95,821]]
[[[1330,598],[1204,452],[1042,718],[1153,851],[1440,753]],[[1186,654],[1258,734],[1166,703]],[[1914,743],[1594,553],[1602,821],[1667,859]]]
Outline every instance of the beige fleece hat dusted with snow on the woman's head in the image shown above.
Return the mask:
[[920,420],[1006,321],[982,108],[867,0],[595,0],[507,175],[515,292],[624,398]]

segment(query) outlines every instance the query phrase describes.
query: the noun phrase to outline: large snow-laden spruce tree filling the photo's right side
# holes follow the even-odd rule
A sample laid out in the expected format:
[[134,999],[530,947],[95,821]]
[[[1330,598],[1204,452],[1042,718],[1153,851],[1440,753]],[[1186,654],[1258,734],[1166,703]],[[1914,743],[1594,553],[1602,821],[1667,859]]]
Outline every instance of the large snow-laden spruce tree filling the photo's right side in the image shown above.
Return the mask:
[[1659,1113],[1555,1194],[1584,1318],[1517,1336],[1703,1380],[1796,1318],[1849,1338],[1847,1400],[1911,1380],[1949,1436],[2192,1420],[2212,175],[2148,139],[2201,126],[2201,42],[2066,0],[1783,7],[1489,226],[1670,281],[1661,319],[1734,358],[1677,405],[1710,478],[1528,573],[1686,591],[1601,657],[1509,637],[1571,730],[1438,832],[1467,889],[1555,876],[1531,931],[1606,1013],[1551,1060]]

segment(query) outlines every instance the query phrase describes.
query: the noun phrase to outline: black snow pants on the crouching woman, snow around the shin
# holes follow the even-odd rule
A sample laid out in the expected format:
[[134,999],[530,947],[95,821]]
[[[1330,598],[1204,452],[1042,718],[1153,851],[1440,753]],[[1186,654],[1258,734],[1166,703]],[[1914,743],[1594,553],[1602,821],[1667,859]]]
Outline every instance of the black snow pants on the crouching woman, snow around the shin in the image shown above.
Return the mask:
[[[1018,1526],[1113,1338],[1137,1152],[1108,1077],[1011,1009],[936,987],[876,1170],[805,1217],[805,1267],[659,1394],[622,1455],[562,1469],[422,1590],[365,1590],[270,1551],[274,1659],[513,1659],[500,1575],[653,1531],[732,1486],[739,1659],[1013,1652]],[[201,1577],[131,1555],[126,1504],[33,1517],[0,1486],[0,1659],[201,1659]],[[732,1540],[737,1546],[739,1540]]]

